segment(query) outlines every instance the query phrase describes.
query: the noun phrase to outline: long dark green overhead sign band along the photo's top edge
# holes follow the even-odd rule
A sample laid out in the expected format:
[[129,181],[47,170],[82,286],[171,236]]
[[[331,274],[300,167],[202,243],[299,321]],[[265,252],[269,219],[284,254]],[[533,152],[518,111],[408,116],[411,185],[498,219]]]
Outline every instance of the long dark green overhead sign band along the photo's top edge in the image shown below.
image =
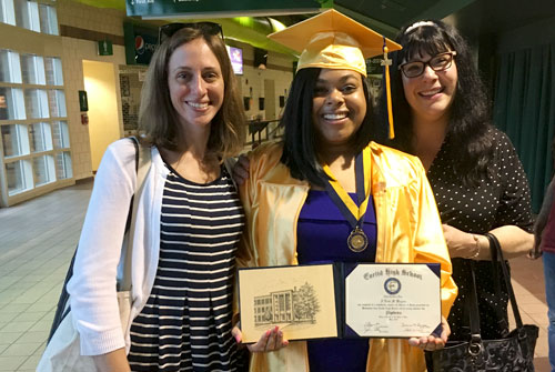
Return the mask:
[[125,0],[128,16],[163,18],[229,18],[316,12],[332,8],[333,0]]

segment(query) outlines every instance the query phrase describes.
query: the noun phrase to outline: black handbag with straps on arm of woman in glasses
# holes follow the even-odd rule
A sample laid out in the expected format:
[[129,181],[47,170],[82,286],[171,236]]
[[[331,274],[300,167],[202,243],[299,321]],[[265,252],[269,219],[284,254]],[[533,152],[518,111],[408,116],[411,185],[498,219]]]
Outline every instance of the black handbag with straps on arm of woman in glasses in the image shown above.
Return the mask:
[[487,233],[486,237],[492,249],[492,260],[495,261],[497,258],[501,261],[516,329],[503,339],[482,340],[473,265],[472,288],[467,299],[471,314],[471,339],[468,341],[448,341],[444,349],[426,352],[426,361],[431,372],[534,372],[534,349],[538,328],[523,324],[500,242],[491,233]]

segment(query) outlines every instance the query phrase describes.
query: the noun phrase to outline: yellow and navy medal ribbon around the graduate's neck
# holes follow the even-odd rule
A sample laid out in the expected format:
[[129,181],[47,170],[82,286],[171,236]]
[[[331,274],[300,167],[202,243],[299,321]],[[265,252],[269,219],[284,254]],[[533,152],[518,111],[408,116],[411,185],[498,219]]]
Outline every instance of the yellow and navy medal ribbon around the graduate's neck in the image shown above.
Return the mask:
[[361,225],[366,213],[369,201],[371,197],[370,178],[371,178],[371,159],[370,148],[365,148],[360,152],[354,160],[354,173],[356,181],[356,197],[359,199],[357,207],[349,193],[335,180],[333,173],[327,164],[323,167],[324,172],[330,175],[331,180],[325,181],[325,190],[335,205],[340,209],[341,213],[349,221],[354,229]]

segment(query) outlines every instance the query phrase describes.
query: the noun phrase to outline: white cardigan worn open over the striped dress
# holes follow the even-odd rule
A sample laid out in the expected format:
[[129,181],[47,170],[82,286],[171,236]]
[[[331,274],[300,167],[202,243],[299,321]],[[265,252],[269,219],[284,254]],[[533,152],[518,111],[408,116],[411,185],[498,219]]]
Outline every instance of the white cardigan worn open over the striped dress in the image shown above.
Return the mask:
[[[142,310],[152,290],[160,255],[160,213],[169,170],[155,147],[137,210],[132,257],[131,319]],[[100,355],[125,348],[115,295],[117,274],[131,197],[135,190],[135,148],[129,139],[110,144],[94,178],[73,277],[68,283],[71,313],[81,340],[81,354]]]

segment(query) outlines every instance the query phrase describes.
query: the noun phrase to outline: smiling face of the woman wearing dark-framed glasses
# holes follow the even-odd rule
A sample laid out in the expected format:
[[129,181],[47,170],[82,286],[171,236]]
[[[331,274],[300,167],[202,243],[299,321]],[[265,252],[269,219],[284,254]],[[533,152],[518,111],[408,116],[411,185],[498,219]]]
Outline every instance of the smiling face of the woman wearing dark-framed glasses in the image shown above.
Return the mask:
[[[423,52],[416,54],[410,62],[427,62],[432,57],[434,56]],[[426,66],[421,76],[406,78],[402,74],[402,79],[406,101],[415,118],[428,121],[448,119],[457,83],[455,60],[446,70],[434,71],[430,66]]]

